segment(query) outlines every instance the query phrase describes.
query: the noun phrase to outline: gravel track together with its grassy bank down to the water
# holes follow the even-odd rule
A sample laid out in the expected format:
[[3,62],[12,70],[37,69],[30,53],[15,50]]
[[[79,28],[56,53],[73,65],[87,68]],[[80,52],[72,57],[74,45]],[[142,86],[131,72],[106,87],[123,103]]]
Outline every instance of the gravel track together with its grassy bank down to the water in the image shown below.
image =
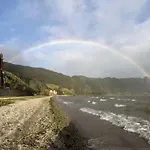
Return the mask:
[[0,107],[1,150],[76,150],[84,139],[49,97]]

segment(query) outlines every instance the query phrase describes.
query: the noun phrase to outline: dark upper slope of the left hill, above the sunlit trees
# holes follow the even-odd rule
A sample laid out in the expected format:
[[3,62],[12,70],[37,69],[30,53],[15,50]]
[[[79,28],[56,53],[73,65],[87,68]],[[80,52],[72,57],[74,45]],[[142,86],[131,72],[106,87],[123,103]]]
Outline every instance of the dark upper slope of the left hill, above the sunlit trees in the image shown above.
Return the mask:
[[34,79],[42,83],[50,83],[61,86],[67,85],[67,87],[71,86],[71,77],[51,70],[15,65],[11,63],[4,63],[4,69],[17,75],[25,81]]

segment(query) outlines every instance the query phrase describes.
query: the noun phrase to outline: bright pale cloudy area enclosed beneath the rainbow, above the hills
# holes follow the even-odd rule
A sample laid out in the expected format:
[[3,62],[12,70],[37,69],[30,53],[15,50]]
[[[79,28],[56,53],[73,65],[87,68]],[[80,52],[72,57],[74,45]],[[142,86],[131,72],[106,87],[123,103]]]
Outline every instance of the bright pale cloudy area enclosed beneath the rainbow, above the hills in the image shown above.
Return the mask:
[[[94,50],[93,50],[94,49]],[[71,44],[43,48],[24,54],[28,64],[40,66],[69,75],[91,77],[133,77],[143,75],[131,62],[120,54],[94,45]],[[34,63],[33,63],[34,62]]]

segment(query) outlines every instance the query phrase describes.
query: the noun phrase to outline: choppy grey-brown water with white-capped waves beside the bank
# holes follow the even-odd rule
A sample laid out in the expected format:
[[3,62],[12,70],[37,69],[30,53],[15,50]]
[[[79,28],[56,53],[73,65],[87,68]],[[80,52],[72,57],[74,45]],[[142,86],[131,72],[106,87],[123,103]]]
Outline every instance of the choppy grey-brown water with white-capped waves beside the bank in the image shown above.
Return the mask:
[[60,96],[58,104],[94,149],[150,149],[149,114],[139,110],[145,99]]

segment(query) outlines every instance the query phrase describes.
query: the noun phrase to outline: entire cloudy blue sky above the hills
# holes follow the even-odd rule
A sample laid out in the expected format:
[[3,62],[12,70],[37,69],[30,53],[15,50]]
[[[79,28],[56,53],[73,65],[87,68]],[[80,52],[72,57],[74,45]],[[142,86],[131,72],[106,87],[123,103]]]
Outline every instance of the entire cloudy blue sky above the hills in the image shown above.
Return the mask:
[[144,77],[149,6],[149,0],[1,0],[0,52],[5,61],[71,76]]

